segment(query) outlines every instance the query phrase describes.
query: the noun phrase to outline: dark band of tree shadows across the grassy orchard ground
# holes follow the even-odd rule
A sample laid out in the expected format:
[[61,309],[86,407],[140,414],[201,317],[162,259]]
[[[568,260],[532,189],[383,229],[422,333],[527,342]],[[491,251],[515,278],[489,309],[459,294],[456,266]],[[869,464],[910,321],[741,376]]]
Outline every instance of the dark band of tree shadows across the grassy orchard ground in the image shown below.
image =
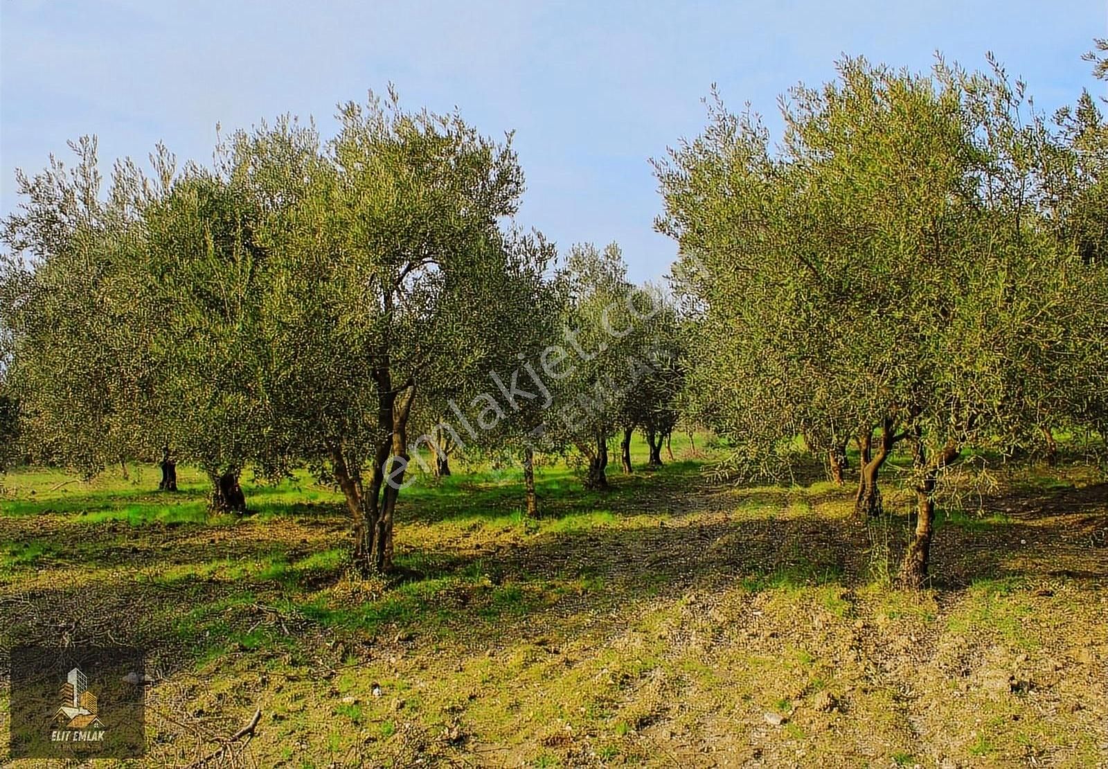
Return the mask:
[[[401,535],[398,563],[408,570],[407,578],[347,597],[332,589],[343,578],[340,565],[289,568],[341,546],[347,533],[341,510],[309,520],[255,521],[245,527],[82,526],[90,541],[63,540],[75,544],[43,564],[47,574],[52,566],[84,566],[105,574],[82,578],[78,570],[64,582],[38,580],[29,589],[20,589],[13,580],[0,598],[9,621],[0,645],[106,637],[171,649],[174,664],[187,666],[235,645],[249,649],[252,644],[298,643],[289,629],[275,629],[271,623],[259,629],[259,612],[277,607],[273,611],[286,617],[286,624],[309,636],[353,634],[377,643],[372,639],[404,627],[480,647],[551,623],[564,625],[573,615],[611,616],[689,591],[735,585],[751,593],[767,586],[855,589],[872,578],[879,533],[890,543],[884,566],[891,563],[895,570],[907,531],[903,517],[889,516],[884,532],[875,532],[872,523],[820,510],[822,490],[814,506],[796,506],[780,503],[791,495],[803,499],[803,490],[701,484],[690,491],[689,480],[680,469],[654,474],[652,481],[660,482],[649,486],[652,507],[676,511],[657,520],[620,517],[612,525],[543,531],[480,553],[462,546],[421,546]],[[623,489],[628,493],[622,495],[617,486],[606,509],[643,512],[643,500],[628,490],[637,491],[628,482]],[[839,501],[849,499],[844,489]],[[988,500],[989,505],[1013,507],[1001,520],[952,519],[938,527],[932,550],[934,586],[957,589],[1003,576],[1108,581],[1106,551],[1079,536],[1090,521],[1104,520],[1108,485],[1032,495],[1015,505],[1008,504],[1012,500],[1010,494]],[[576,503],[568,509],[576,510]],[[766,510],[766,504],[777,506]],[[402,511],[408,520],[441,520],[428,515],[420,519],[411,509]],[[66,526],[64,536],[76,533]],[[126,544],[129,537],[132,544]],[[267,565],[267,558],[276,563]],[[205,576],[203,570],[178,578],[143,578],[175,565],[213,561],[260,567],[222,580]],[[259,633],[263,636],[256,637]]]

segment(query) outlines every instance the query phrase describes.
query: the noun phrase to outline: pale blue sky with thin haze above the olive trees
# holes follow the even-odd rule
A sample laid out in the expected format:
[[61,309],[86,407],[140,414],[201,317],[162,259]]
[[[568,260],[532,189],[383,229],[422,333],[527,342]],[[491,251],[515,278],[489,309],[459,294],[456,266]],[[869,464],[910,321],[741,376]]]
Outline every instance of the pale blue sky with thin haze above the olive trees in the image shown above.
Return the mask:
[[674,244],[653,232],[648,158],[705,123],[712,82],[777,129],[776,100],[833,76],[842,53],[924,69],[994,51],[1039,106],[1104,92],[1080,54],[1105,0],[1039,2],[166,2],[0,0],[0,213],[14,170],[100,137],[105,171],[158,140],[207,161],[215,125],[291,112],[325,136],[335,104],[396,83],[403,105],[455,105],[516,131],[520,223],[563,248],[618,240],[638,280]]

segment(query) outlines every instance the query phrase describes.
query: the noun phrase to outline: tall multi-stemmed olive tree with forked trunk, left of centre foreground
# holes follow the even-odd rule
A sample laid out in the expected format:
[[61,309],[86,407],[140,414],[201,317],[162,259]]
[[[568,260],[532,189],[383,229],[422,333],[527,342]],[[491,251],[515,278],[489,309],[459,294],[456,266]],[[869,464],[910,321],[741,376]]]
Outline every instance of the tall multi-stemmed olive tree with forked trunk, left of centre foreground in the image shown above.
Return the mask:
[[[488,376],[526,309],[513,286],[541,265],[501,230],[523,188],[510,137],[485,139],[456,114],[403,112],[391,94],[339,117],[302,192],[259,227],[267,366],[279,372],[268,400],[289,451],[342,490],[358,567],[387,572],[412,410],[438,400],[417,394]],[[256,165],[276,173],[265,156]],[[499,412],[481,411],[481,428]]]

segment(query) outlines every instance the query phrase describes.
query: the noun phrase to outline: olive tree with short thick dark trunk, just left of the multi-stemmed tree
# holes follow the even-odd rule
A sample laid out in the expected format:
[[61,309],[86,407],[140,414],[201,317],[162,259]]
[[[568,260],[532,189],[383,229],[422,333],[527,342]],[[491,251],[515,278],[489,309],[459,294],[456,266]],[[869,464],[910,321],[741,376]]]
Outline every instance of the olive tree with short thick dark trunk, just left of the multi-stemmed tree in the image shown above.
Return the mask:
[[255,240],[257,218],[257,201],[232,176],[186,168],[146,207],[147,247],[134,266],[146,276],[136,296],[158,318],[147,421],[175,457],[208,475],[218,512],[246,511],[243,468],[268,466],[271,457],[268,255]]

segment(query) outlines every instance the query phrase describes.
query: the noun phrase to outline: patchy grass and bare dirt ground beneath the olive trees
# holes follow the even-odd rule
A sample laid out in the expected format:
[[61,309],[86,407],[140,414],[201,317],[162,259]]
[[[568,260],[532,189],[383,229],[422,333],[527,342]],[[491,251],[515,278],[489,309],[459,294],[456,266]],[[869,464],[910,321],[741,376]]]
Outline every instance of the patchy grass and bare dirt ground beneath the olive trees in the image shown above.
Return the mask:
[[148,766],[1106,766],[1108,486],[1070,475],[945,521],[920,593],[849,490],[677,471],[604,515],[402,520],[392,584],[296,566],[343,541],[327,505],[0,516],[74,543],[3,573],[0,643],[146,647]]

